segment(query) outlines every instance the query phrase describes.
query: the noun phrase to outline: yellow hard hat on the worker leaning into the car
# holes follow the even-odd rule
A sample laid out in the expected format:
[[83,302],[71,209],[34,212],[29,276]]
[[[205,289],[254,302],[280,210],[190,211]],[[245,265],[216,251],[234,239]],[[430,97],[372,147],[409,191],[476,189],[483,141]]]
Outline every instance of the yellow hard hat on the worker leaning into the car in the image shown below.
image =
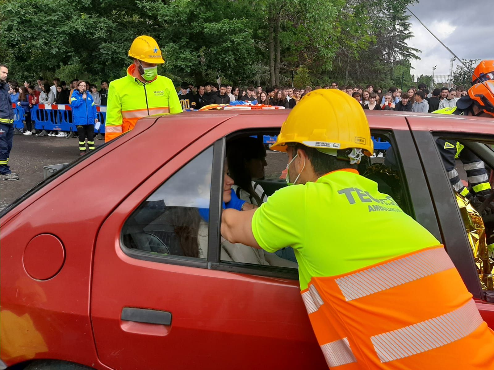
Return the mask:
[[271,149],[287,151],[287,143],[320,149],[362,148],[369,156],[373,152],[364,110],[354,98],[336,89],[313,90],[297,103]]

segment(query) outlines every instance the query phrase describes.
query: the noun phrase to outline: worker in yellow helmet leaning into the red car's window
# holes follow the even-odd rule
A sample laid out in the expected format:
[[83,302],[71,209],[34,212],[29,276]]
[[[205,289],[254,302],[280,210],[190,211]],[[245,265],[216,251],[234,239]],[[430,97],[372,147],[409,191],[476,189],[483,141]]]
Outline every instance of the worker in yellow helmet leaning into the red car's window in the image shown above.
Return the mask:
[[331,369],[494,369],[494,333],[444,247],[357,172],[372,154],[357,101],[312,91],[271,148],[288,152],[293,185],[257,209],[224,210],[221,234],[268,252],[295,250]]

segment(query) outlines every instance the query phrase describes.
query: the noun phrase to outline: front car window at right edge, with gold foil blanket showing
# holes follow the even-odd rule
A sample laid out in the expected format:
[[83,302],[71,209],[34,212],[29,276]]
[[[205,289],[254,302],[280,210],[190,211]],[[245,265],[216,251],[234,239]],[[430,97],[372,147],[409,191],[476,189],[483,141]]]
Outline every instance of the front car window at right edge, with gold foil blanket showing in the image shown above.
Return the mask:
[[494,145],[454,137],[436,144],[453,187],[483,290],[494,291]]

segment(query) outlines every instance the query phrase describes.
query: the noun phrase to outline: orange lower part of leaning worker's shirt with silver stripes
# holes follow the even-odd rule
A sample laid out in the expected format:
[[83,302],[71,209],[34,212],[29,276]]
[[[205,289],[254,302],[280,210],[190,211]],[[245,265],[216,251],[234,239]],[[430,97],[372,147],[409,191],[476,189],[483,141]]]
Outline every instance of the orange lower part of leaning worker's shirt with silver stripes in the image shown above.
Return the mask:
[[301,294],[331,369],[494,369],[494,333],[443,246],[314,277]]

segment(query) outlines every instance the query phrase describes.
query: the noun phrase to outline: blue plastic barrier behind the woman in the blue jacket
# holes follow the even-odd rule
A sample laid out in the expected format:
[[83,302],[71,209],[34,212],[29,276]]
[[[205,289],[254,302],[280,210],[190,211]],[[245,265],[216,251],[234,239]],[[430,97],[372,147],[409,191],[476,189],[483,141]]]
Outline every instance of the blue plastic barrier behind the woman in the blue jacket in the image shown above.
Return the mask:
[[[101,122],[95,133],[105,133],[106,106],[96,107]],[[72,108],[68,104],[37,104],[31,108],[31,119],[37,130],[77,131],[72,120]]]

